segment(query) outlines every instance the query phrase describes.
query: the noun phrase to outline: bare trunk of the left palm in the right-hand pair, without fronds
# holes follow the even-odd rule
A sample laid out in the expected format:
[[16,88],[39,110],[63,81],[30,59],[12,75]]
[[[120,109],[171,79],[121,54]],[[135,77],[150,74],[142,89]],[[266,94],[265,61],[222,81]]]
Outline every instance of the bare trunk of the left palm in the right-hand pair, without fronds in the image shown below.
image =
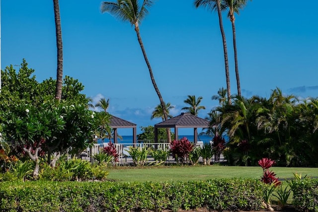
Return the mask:
[[225,75],[226,75],[227,90],[228,90],[228,103],[231,104],[231,86],[230,86],[230,73],[229,73],[229,60],[228,60],[227,41],[226,41],[226,38],[225,38],[225,32],[224,32],[224,28],[223,28],[220,0],[216,0],[216,2],[217,2],[217,7],[218,7],[220,30],[221,30],[221,34],[222,34],[222,40],[223,40]]

